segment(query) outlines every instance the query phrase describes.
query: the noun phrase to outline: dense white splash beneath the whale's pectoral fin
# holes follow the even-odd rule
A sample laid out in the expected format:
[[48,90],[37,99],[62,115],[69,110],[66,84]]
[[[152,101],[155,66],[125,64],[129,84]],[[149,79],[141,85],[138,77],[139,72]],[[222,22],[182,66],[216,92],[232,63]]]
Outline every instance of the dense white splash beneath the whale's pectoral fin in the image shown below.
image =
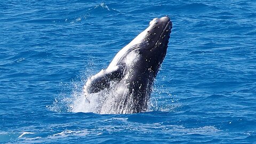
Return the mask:
[[132,113],[132,97],[122,83],[111,83],[110,89],[98,93],[74,93],[74,102],[70,105],[72,112],[97,114],[126,114]]

